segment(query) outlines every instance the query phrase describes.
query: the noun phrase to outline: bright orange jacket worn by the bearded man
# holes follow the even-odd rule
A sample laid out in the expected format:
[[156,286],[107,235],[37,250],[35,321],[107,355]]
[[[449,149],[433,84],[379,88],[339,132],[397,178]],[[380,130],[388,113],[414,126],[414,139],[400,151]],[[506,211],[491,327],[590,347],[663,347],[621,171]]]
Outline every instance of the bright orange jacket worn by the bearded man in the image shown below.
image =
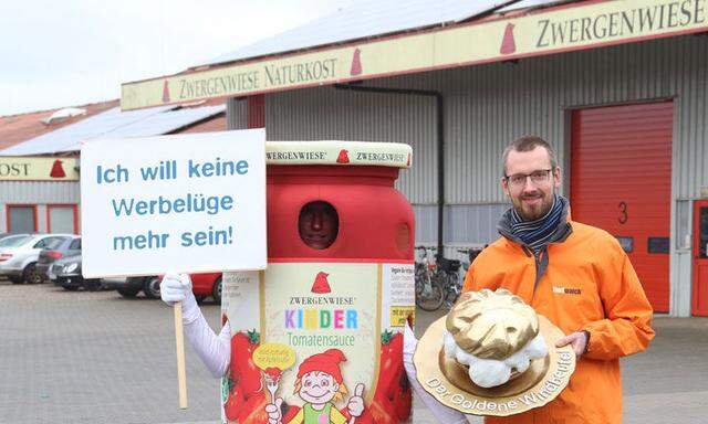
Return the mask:
[[487,423],[621,423],[620,358],[647,348],[652,306],[629,258],[600,229],[569,221],[572,233],[548,246],[548,268],[518,243],[499,239],[475,259],[464,290],[507,288],[566,335],[587,330],[590,343],[569,385],[548,405]]

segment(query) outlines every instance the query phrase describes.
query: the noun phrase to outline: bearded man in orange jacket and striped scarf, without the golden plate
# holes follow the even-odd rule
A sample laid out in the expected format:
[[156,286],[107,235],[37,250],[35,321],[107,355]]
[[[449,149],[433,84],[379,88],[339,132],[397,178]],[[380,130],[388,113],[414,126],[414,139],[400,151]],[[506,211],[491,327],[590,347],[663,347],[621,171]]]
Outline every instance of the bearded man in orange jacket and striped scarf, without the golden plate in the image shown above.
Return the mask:
[[512,208],[502,235],[475,259],[464,290],[507,288],[568,336],[577,364],[570,384],[543,407],[487,423],[621,423],[620,358],[647,348],[652,306],[629,258],[603,230],[574,222],[556,194],[561,169],[539,137],[503,153],[501,186]]

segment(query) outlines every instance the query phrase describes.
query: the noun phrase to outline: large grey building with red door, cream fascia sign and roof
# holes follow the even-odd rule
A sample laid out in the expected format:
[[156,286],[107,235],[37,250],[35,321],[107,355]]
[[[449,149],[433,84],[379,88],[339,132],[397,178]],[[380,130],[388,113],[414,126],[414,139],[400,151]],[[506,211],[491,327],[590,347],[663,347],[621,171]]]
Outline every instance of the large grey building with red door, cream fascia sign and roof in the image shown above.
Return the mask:
[[541,136],[573,219],[617,237],[655,310],[708,315],[708,0],[457,2],[436,25],[437,2],[373,23],[367,4],[126,83],[122,106],[229,98],[228,127],[269,140],[409,144],[416,242],[448,257],[497,239],[501,152]]

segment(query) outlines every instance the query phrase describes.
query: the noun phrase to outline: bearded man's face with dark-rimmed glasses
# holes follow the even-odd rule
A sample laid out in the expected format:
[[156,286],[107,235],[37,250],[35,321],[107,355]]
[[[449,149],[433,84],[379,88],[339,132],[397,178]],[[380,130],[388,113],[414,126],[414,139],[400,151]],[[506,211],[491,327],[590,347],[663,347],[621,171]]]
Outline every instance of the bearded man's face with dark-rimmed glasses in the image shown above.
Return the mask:
[[561,169],[551,167],[548,150],[537,146],[530,151],[511,150],[501,186],[524,221],[543,218],[553,206],[561,186]]

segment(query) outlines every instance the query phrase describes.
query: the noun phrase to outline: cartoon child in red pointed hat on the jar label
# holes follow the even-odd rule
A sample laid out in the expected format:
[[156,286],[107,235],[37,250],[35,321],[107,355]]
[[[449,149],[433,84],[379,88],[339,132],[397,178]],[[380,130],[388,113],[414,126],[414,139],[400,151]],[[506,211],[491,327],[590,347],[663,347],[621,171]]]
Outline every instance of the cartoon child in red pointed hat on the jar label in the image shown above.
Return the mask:
[[[344,424],[346,416],[334,405],[347,393],[342,382],[340,362],[346,357],[339,349],[329,349],[323,353],[315,353],[300,364],[294,393],[305,403],[288,424]],[[354,424],[357,416],[364,412],[364,384],[356,384],[354,395],[346,405],[350,415],[348,424]],[[266,406],[269,424],[282,424],[282,398]]]

